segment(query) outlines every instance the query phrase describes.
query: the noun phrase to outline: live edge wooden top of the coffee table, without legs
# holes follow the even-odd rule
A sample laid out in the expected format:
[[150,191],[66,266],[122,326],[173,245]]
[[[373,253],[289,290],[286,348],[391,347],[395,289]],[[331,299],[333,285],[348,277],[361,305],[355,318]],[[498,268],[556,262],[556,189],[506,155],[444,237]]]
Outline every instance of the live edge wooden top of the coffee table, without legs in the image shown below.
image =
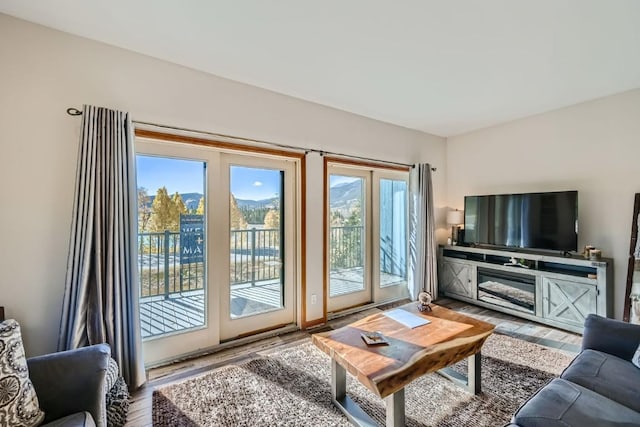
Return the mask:
[[[480,351],[494,325],[437,305],[420,312],[417,303],[402,307],[431,323],[410,329],[377,313],[329,332],[313,343],[372,392],[384,398],[414,379],[450,366]],[[381,332],[389,345],[368,346],[362,332]]]

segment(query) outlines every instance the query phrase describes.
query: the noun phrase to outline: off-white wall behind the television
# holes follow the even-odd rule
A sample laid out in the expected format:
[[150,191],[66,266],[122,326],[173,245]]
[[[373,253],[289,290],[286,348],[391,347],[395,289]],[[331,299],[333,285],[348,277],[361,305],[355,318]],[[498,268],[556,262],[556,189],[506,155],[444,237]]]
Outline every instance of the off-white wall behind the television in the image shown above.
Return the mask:
[[640,192],[640,90],[447,140],[448,205],[465,195],[578,190],[578,248],[614,258],[622,318],[634,194]]

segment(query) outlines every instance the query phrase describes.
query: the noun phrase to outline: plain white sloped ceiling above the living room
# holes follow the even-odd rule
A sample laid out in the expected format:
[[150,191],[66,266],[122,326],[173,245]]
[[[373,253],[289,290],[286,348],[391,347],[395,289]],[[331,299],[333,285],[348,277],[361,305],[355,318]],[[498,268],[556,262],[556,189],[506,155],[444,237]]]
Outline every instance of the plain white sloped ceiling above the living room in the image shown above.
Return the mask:
[[640,88],[638,0],[2,0],[0,11],[441,136]]

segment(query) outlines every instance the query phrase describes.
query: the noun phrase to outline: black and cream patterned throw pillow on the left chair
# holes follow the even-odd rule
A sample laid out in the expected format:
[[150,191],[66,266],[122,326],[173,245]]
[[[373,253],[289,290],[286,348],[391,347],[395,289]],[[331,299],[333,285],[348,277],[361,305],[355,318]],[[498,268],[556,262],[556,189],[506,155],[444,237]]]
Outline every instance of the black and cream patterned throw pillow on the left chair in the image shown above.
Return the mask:
[[0,323],[0,424],[37,426],[44,419],[29,379],[20,325],[13,319]]

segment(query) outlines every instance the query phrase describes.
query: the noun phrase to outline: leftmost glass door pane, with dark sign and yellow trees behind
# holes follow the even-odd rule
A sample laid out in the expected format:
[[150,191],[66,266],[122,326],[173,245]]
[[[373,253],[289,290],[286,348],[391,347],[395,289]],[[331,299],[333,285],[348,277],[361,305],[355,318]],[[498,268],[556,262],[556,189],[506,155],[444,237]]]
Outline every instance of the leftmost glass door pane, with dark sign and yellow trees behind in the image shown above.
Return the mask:
[[138,155],[143,339],[206,325],[205,163]]

